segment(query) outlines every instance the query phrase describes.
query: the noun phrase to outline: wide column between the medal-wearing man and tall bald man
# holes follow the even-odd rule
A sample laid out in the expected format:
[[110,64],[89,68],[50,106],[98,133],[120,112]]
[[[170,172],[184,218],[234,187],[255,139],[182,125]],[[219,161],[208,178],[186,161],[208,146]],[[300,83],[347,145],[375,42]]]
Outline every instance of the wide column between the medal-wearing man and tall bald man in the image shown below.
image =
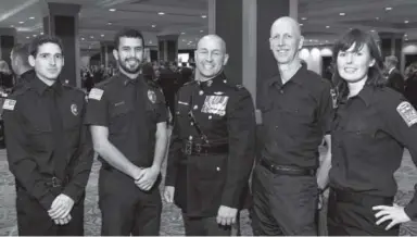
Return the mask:
[[[269,30],[281,16],[298,16],[298,0],[208,0],[208,32],[227,45],[226,75],[243,84],[256,104],[261,83],[277,73],[269,49]],[[260,121],[260,115],[257,114]]]

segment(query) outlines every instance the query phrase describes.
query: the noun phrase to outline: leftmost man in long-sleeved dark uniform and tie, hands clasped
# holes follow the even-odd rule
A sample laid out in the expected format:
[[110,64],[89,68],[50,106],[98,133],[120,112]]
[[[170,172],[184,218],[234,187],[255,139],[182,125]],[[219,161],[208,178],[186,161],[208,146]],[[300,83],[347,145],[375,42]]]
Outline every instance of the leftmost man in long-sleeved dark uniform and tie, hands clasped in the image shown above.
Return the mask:
[[85,187],[92,164],[83,126],[85,93],[63,85],[58,38],[30,46],[35,74],[3,104],[8,161],[16,178],[20,235],[84,235]]

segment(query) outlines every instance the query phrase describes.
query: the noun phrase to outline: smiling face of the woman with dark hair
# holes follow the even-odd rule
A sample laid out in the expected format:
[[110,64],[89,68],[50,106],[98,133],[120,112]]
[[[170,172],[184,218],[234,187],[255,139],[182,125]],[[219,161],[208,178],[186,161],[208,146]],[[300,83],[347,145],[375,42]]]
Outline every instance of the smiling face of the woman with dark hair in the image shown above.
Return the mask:
[[346,51],[339,51],[337,65],[339,75],[348,83],[356,83],[367,79],[369,67],[375,64],[367,45],[363,45],[354,51],[354,42]]

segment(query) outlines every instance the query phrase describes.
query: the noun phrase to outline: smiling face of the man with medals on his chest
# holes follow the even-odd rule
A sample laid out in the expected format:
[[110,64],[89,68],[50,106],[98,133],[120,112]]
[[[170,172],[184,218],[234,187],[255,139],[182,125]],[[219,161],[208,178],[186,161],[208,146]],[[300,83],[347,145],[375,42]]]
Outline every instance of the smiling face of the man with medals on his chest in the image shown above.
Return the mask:
[[220,74],[228,61],[225,42],[217,36],[203,37],[195,50],[195,66],[200,79],[211,79]]

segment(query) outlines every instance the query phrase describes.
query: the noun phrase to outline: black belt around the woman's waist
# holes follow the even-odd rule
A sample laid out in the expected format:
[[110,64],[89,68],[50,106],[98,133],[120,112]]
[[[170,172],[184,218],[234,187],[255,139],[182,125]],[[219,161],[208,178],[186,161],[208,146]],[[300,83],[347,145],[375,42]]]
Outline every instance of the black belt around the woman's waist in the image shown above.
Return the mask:
[[348,190],[341,190],[336,188],[331,188],[330,190],[331,190],[330,195],[333,196],[333,198],[338,202],[348,202],[348,203],[357,203],[357,204],[369,203],[371,205],[376,205],[376,204],[392,205],[394,201],[393,197],[375,196],[375,195],[368,195],[365,192],[348,191]]

